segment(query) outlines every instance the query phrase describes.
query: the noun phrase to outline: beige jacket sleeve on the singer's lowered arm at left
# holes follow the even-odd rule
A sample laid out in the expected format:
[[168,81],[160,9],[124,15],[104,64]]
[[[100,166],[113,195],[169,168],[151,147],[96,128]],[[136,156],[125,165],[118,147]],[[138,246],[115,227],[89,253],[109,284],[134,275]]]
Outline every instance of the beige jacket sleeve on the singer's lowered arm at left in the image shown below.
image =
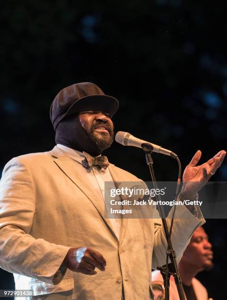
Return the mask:
[[69,247],[29,234],[35,212],[32,176],[20,157],[13,158],[6,164],[0,180],[0,267],[58,284],[66,272],[61,265]]

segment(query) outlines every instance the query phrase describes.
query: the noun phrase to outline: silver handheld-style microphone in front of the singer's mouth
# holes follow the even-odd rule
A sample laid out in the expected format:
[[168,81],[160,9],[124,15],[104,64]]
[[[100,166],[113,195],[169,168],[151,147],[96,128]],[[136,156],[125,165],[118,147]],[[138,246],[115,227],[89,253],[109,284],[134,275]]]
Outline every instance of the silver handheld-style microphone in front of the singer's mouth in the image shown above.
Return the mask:
[[144,150],[152,150],[153,152],[169,155],[172,156],[173,158],[177,157],[177,154],[175,154],[173,151],[167,150],[165,148],[162,148],[161,146],[138,139],[128,132],[118,131],[115,135],[115,141],[119,144],[122,144],[123,146],[138,147]]

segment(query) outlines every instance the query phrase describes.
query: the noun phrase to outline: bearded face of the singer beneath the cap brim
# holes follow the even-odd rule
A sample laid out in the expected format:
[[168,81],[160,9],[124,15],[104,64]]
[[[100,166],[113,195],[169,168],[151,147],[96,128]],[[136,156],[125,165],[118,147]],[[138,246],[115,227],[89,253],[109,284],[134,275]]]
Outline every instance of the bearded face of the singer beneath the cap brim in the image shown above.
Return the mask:
[[109,148],[113,143],[114,126],[108,113],[101,111],[84,111],[79,114],[80,122],[88,133],[91,142],[100,150]]

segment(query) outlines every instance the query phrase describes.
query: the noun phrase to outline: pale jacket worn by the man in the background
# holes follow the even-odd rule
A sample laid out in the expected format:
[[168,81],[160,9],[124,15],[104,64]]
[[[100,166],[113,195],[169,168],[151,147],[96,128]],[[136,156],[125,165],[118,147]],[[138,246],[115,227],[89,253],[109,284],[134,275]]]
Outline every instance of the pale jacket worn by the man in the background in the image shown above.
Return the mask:
[[[180,300],[173,276],[170,277],[169,283],[169,300]],[[152,272],[152,284],[163,285],[163,277],[159,271]],[[192,278],[192,286],[197,300],[208,300],[206,288],[198,279]],[[154,291],[154,295],[154,300],[157,300],[160,293]]]

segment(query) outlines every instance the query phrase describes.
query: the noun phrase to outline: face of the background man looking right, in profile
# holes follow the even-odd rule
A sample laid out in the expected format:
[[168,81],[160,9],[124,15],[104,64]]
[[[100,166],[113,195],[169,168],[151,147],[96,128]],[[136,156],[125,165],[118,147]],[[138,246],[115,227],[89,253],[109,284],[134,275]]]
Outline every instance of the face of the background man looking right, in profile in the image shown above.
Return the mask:
[[182,261],[189,266],[193,266],[198,272],[211,270],[213,267],[212,245],[208,241],[208,236],[203,227],[195,230],[190,243],[188,244]]

